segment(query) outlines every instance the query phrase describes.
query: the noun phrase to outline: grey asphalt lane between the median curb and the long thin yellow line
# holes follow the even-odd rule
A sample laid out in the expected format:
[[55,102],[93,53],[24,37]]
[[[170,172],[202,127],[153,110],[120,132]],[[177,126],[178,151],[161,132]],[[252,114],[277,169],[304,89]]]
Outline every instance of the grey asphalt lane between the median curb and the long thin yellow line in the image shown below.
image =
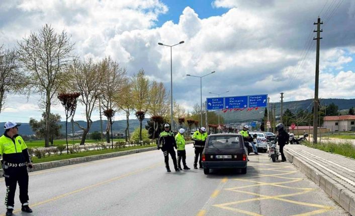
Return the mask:
[[[116,158],[97,160],[87,163],[69,165],[54,169],[30,172],[29,196],[30,204],[50,199],[51,197],[78,190],[84,186],[104,182],[117,176],[125,176],[132,170],[149,168],[161,165],[161,151],[149,151],[138,154],[126,155]],[[134,173],[133,173],[134,174]],[[0,179],[0,197],[5,197],[6,185],[4,178]],[[20,206],[18,190],[15,196],[15,205]],[[4,198],[5,199],[5,198]],[[6,206],[1,205],[1,210]]]

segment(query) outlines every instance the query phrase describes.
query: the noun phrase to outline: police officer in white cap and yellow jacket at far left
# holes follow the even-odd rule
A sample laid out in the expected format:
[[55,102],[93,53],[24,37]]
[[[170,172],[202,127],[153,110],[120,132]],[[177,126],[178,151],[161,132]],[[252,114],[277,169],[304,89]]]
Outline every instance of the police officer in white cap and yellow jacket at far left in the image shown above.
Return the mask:
[[17,183],[19,183],[20,187],[21,210],[29,213],[32,212],[32,209],[28,206],[27,166],[33,168],[33,164],[25,141],[18,135],[18,127],[20,125],[13,121],[6,122],[5,133],[0,137],[0,154],[3,156],[2,167],[7,187],[5,198],[7,216],[13,215]]

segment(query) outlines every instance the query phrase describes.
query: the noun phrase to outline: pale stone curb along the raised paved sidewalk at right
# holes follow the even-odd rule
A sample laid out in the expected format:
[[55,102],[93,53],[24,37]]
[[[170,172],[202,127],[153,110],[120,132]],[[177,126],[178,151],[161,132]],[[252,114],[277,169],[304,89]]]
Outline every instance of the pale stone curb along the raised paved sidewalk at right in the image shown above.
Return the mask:
[[355,194],[285,148],[285,156],[351,215],[355,215]]

